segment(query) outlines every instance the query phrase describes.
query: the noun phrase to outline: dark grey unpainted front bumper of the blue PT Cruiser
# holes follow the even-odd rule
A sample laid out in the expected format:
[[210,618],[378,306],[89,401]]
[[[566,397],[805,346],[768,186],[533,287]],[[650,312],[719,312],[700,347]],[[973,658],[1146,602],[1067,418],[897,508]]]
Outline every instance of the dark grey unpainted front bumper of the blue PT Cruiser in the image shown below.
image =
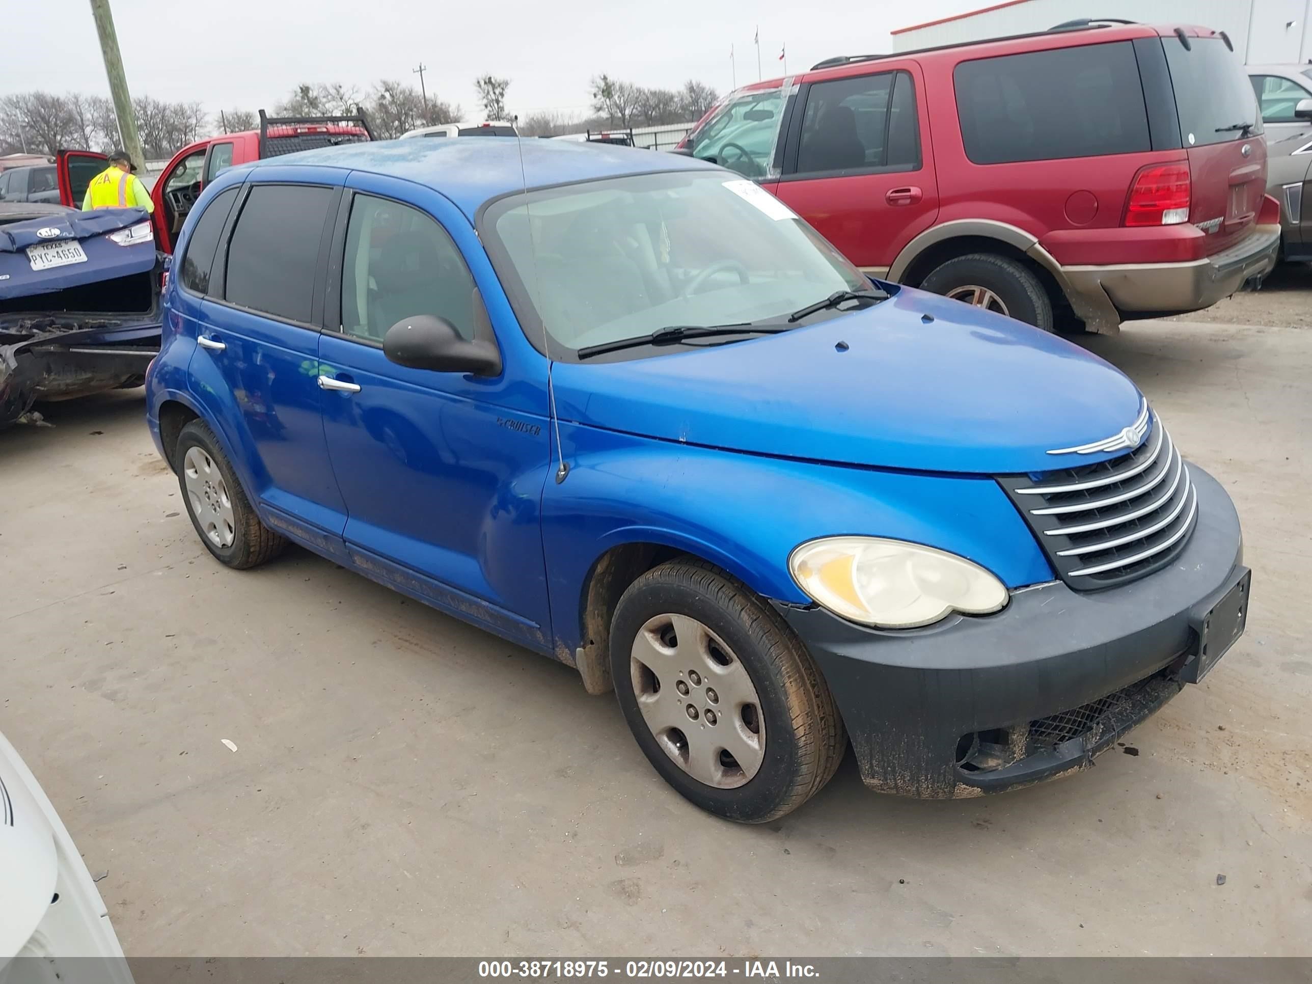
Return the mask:
[[1084,769],[1179,693],[1197,659],[1191,618],[1246,575],[1229,496],[1189,467],[1199,513],[1189,546],[1119,588],[1042,584],[996,615],[909,631],[778,605],[838,702],[866,785],[943,799]]

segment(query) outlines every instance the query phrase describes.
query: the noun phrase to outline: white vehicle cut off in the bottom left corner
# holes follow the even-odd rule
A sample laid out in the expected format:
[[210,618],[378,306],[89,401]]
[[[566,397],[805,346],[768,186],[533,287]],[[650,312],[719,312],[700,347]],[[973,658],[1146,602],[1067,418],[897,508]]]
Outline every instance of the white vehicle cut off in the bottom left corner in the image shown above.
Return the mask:
[[[96,960],[72,958],[100,958]],[[87,865],[0,735],[0,981],[133,984]]]

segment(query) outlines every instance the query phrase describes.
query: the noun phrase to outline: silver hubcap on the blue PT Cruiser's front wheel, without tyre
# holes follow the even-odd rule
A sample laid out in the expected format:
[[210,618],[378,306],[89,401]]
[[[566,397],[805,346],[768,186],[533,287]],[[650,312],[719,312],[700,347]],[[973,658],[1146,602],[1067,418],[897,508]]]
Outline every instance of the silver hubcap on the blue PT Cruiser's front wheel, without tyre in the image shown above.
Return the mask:
[[656,743],[698,782],[731,790],[765,760],[765,718],[747,668],[687,615],[656,615],[634,639],[630,672]]

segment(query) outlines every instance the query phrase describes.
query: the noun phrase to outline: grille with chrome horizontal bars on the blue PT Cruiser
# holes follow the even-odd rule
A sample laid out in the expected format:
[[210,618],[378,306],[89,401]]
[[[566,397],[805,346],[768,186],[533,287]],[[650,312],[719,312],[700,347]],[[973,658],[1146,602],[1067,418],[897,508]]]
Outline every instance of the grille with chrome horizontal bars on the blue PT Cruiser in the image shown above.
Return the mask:
[[1198,518],[1189,466],[1156,416],[1140,445],[1118,458],[998,483],[1061,580],[1082,590],[1165,567]]

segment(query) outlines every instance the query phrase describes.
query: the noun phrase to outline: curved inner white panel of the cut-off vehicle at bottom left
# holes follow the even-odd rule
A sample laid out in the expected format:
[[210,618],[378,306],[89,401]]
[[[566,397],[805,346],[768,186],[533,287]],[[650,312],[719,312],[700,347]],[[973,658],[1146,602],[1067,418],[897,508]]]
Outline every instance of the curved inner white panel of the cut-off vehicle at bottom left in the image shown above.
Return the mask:
[[55,833],[28,785],[31,773],[0,735],[0,963],[28,942],[55,891]]

